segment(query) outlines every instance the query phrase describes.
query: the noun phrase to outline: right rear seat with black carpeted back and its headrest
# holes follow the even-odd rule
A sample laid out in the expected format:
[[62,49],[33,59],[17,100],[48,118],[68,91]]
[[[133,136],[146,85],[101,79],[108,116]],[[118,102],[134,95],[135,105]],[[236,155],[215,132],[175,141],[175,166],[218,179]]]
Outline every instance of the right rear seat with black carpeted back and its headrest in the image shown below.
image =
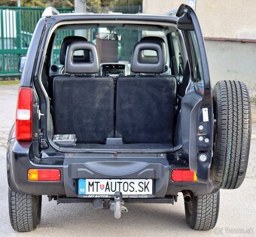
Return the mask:
[[[115,129],[125,143],[172,144],[176,80],[159,75],[165,69],[162,43],[162,38],[137,43],[131,62],[137,75],[117,78]],[[157,60],[143,59],[143,50],[156,51]]]

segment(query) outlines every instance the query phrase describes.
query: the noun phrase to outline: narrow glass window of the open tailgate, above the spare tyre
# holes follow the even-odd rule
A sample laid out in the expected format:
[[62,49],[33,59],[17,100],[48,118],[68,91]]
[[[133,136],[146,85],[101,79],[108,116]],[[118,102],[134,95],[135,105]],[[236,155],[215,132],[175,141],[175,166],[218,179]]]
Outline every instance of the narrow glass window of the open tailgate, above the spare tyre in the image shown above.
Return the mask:
[[204,92],[204,81],[203,81],[203,65],[197,42],[197,35],[194,31],[189,31],[190,45],[192,51],[193,61],[193,72],[194,72],[194,87],[199,93]]

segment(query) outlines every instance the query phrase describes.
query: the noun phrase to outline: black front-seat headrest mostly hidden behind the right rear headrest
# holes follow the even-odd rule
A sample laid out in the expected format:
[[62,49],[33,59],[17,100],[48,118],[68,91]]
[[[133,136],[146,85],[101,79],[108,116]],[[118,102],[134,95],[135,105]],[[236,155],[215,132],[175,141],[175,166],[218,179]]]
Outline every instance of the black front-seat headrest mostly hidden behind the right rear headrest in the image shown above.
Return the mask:
[[[148,43],[156,43],[156,44],[160,44],[160,46],[162,47],[163,50],[163,56],[164,56],[164,63],[166,64],[166,43],[163,40],[163,38],[157,37],[157,36],[146,36],[144,38],[141,39],[141,42],[148,42]],[[143,55],[143,53],[141,53],[140,55],[140,60],[142,62],[157,62],[157,56],[145,56]]]

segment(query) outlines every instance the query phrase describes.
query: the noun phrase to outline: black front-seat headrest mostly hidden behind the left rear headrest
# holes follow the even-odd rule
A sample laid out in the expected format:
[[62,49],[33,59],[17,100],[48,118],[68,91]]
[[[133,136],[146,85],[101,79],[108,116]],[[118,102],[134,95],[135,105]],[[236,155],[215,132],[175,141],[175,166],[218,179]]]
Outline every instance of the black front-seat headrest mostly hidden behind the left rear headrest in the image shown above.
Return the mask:
[[[62,65],[65,64],[67,47],[74,41],[85,42],[87,39],[82,36],[67,36],[66,38],[63,38],[59,52],[59,62]],[[90,53],[88,51],[84,51],[84,56],[75,57],[75,62],[90,62]]]

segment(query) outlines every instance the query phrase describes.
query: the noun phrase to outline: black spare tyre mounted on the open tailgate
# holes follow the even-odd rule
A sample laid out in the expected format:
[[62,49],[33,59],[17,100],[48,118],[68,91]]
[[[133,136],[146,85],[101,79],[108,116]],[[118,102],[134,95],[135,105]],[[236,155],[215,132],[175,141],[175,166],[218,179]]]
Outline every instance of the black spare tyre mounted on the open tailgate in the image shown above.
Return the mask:
[[240,81],[218,81],[214,87],[215,143],[211,183],[236,189],[245,179],[251,142],[248,90]]

